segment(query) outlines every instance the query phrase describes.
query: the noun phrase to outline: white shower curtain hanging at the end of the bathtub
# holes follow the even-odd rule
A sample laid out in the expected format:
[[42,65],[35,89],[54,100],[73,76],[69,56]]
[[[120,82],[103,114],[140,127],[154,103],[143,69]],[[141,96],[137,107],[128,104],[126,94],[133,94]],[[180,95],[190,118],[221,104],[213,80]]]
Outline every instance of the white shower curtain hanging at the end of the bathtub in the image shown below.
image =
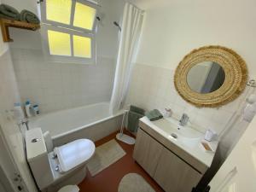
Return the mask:
[[125,3],[119,53],[110,101],[110,112],[115,113],[124,107],[136,55],[137,42],[143,26],[143,10],[131,3]]

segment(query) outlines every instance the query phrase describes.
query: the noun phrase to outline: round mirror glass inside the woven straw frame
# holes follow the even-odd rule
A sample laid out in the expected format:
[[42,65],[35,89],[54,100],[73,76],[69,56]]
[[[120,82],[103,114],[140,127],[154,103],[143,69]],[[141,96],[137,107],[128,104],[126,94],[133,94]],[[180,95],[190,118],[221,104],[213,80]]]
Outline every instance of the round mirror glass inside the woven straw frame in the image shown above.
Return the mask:
[[224,84],[224,69],[216,62],[203,61],[191,67],[187,74],[189,88],[197,93],[211,93]]

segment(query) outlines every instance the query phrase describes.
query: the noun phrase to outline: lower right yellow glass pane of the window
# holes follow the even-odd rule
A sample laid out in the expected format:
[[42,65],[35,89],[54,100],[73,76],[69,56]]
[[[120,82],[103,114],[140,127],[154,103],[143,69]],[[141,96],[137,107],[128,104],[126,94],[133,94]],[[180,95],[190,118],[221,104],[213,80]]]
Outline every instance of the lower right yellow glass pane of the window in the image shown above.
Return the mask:
[[84,58],[91,58],[91,39],[74,35],[73,55]]

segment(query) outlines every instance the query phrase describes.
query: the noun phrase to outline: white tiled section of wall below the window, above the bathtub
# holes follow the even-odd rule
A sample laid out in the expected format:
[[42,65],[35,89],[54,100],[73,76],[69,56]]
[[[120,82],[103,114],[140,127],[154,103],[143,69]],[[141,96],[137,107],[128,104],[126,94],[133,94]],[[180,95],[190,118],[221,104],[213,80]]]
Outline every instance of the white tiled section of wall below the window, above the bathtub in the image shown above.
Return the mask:
[[21,101],[38,103],[42,113],[110,101],[113,59],[84,65],[49,62],[41,49],[12,48],[11,53]]

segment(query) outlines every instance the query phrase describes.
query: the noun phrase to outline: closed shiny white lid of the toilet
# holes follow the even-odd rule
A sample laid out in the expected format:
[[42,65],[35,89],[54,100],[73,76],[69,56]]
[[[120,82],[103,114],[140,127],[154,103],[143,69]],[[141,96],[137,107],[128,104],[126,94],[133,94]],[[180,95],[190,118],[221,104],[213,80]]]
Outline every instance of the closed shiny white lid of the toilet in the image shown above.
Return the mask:
[[85,163],[95,153],[95,144],[89,139],[78,139],[54,149],[60,162],[60,172],[68,172]]

